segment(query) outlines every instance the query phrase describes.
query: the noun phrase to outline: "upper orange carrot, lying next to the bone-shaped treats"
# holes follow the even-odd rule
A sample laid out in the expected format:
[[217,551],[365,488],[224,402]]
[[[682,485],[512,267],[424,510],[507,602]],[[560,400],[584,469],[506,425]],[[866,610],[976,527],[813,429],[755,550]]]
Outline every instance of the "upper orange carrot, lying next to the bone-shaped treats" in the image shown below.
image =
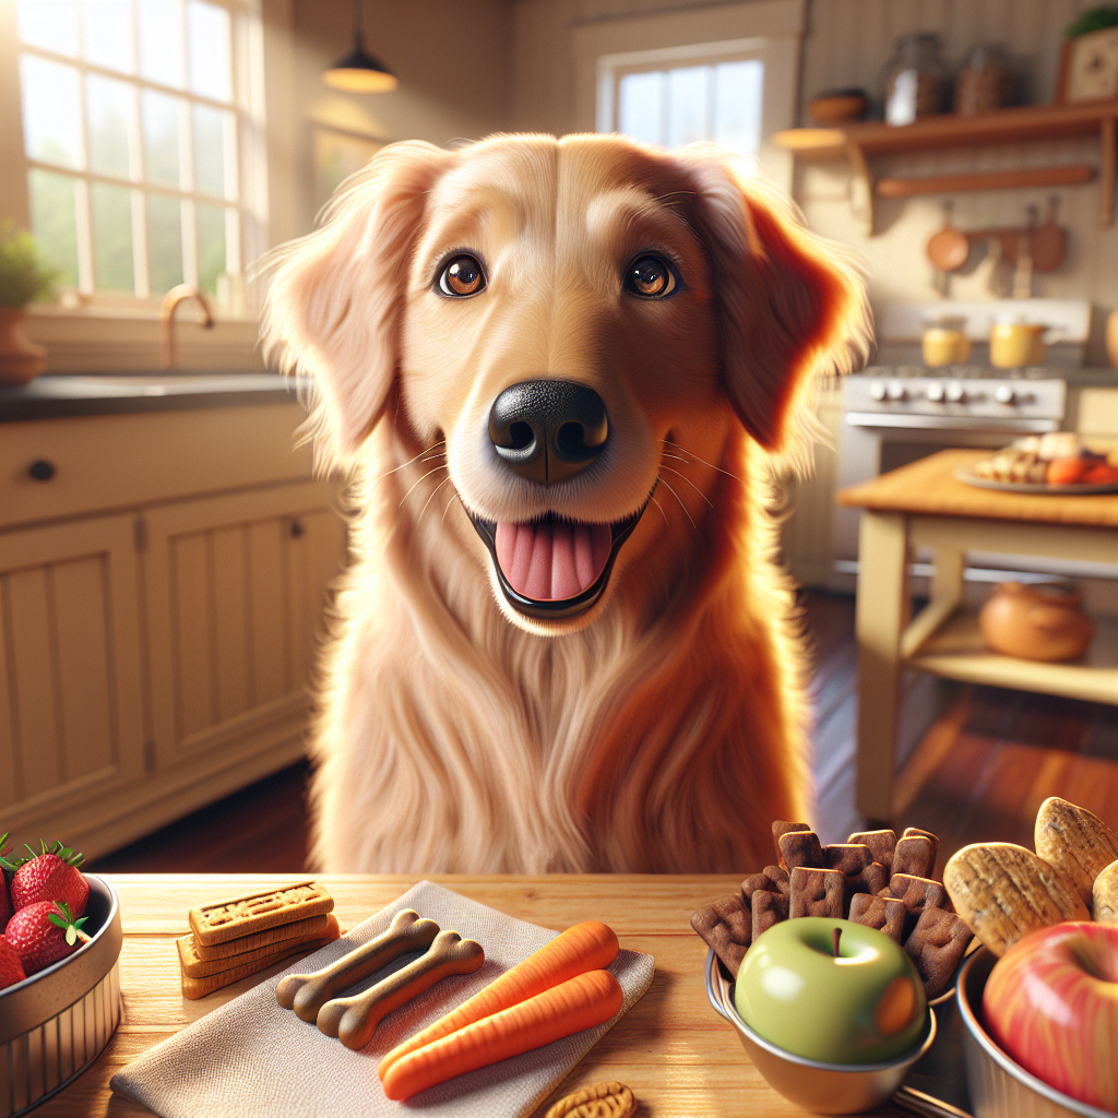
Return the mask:
[[463,1002],[445,1017],[398,1044],[380,1061],[380,1078],[401,1057],[430,1044],[448,1033],[457,1032],[483,1017],[524,1002],[560,983],[608,967],[617,958],[617,937],[598,920],[584,920],[561,932],[550,944],[518,963],[494,979],[470,1001]]

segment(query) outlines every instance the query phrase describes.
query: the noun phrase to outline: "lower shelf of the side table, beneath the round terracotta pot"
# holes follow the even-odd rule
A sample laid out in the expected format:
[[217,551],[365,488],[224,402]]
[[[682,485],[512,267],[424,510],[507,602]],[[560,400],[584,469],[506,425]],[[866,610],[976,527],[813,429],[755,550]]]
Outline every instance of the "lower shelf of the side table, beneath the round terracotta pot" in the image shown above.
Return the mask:
[[[921,625],[921,617],[911,623],[910,631]],[[977,616],[957,610],[923,637],[917,651],[904,657],[904,663],[964,683],[1118,705],[1118,622],[1099,618],[1096,626],[1095,639],[1082,660],[1045,664],[991,652],[978,631]]]

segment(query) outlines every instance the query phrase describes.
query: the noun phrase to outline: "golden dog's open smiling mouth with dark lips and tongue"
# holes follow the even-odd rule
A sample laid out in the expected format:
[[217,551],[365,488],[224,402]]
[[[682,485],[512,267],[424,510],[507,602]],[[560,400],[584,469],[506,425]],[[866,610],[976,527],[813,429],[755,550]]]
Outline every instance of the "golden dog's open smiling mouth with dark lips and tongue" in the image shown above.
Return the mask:
[[601,597],[617,552],[647,508],[645,501],[613,524],[563,520],[553,513],[524,524],[483,520],[472,512],[470,520],[493,557],[509,604],[528,617],[559,620]]

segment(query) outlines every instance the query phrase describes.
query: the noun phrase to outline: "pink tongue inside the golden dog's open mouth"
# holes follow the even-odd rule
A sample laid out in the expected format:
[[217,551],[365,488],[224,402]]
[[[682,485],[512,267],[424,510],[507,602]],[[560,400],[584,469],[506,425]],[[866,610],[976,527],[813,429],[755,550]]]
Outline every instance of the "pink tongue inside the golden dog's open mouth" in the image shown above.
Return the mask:
[[574,598],[601,574],[612,542],[608,524],[500,523],[496,561],[525,598]]

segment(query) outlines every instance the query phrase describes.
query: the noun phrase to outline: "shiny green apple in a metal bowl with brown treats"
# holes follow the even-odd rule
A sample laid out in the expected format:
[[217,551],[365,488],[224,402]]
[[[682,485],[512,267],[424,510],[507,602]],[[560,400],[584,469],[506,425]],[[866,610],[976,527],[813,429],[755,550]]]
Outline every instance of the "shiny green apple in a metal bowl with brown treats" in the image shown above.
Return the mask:
[[741,961],[733,1001],[754,1032],[824,1063],[896,1060],[920,1042],[928,1015],[900,944],[822,917],[784,920],[760,936]]

